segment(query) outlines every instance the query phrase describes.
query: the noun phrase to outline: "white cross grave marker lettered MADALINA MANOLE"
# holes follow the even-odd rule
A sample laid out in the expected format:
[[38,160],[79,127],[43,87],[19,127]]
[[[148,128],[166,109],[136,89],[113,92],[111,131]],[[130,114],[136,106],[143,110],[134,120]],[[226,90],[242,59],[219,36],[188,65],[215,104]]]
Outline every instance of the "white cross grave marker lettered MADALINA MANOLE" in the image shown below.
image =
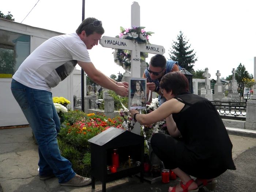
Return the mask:
[[[138,2],[133,2],[131,5],[131,27],[140,27],[140,5]],[[140,78],[140,52],[164,54],[165,48],[154,44],[138,44],[132,40],[120,39],[116,37],[103,36],[99,40],[99,44],[103,47],[124,49],[131,51],[131,74],[125,72],[124,80],[129,82],[129,78]],[[122,79],[123,81],[123,79]],[[133,124],[135,122],[133,121]],[[133,133],[140,135],[140,124],[137,122],[132,129]]]

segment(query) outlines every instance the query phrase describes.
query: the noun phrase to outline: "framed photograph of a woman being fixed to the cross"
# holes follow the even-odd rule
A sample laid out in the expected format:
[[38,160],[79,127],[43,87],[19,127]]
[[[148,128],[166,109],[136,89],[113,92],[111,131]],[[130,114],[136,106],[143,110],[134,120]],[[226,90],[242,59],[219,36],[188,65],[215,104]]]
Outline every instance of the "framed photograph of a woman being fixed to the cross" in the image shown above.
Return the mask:
[[128,109],[146,109],[146,78],[131,78],[129,83]]

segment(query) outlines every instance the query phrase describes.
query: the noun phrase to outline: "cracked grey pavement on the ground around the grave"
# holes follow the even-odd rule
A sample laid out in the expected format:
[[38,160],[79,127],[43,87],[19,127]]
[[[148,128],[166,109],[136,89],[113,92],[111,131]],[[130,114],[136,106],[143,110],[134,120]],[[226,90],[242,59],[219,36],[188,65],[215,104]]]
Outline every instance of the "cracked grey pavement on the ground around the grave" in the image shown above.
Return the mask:
[[[237,170],[228,170],[220,176],[219,185],[215,191],[255,191],[256,186],[255,182],[253,182],[255,181],[253,175],[255,175],[256,171],[256,147],[254,147],[256,146],[256,139],[236,135],[230,135],[230,139],[233,143],[233,158],[236,158],[234,161]],[[37,145],[35,145],[32,138],[31,128],[0,130],[0,184],[3,188],[3,192],[101,191],[100,182],[96,183],[96,189],[92,190],[91,186],[80,188],[60,186],[57,178],[41,181],[38,177],[37,163]],[[168,184],[162,184],[161,182],[149,184],[147,182],[140,183],[139,179],[136,177],[124,178],[108,183],[107,191],[162,192],[167,191],[169,186],[174,186],[178,184],[178,182],[179,181],[176,180]],[[234,187],[231,188],[231,185]],[[250,185],[253,185],[254,188],[249,189]]]

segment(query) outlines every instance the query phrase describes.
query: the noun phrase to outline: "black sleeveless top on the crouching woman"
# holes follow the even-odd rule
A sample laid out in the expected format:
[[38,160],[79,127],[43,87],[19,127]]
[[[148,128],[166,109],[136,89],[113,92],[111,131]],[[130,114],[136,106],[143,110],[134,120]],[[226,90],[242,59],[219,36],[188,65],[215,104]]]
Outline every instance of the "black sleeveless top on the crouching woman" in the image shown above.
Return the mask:
[[212,103],[199,95],[185,92],[175,97],[185,104],[173,114],[185,147],[199,165],[221,171],[236,170],[232,159],[232,143],[219,113]]

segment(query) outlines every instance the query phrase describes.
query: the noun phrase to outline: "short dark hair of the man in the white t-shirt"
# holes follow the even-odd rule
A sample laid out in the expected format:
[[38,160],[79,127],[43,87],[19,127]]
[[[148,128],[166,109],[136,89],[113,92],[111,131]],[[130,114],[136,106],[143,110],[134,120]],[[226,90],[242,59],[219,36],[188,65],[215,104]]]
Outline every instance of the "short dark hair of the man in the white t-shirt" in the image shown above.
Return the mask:
[[[87,37],[89,35],[93,34],[94,32],[103,35],[105,33],[105,31],[104,31],[102,25],[99,27],[94,27],[93,24],[91,24],[95,20],[98,20],[98,19],[96,19],[94,17],[89,17],[89,18],[84,19],[83,22],[76,29],[76,33],[81,34],[82,31],[85,31]],[[89,25],[89,24],[91,24],[91,25]]]

